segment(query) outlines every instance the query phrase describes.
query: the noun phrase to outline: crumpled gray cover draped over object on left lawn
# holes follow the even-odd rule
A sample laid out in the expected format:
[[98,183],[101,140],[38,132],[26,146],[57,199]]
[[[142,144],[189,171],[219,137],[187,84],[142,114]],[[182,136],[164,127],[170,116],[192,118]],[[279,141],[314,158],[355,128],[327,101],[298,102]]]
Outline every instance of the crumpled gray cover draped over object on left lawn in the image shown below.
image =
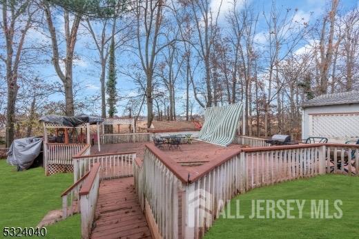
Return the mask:
[[19,166],[21,169],[30,168],[41,151],[42,139],[37,137],[25,137],[14,140],[7,153],[6,160],[11,165]]

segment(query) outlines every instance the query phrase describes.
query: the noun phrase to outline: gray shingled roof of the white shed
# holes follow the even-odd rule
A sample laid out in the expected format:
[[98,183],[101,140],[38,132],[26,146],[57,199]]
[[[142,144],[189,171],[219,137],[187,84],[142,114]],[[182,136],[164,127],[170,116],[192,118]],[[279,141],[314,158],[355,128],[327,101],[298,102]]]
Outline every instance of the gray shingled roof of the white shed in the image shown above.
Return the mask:
[[329,106],[334,104],[354,104],[354,103],[359,103],[358,90],[320,95],[313,99],[309,99],[307,102],[304,102],[302,104],[302,107]]

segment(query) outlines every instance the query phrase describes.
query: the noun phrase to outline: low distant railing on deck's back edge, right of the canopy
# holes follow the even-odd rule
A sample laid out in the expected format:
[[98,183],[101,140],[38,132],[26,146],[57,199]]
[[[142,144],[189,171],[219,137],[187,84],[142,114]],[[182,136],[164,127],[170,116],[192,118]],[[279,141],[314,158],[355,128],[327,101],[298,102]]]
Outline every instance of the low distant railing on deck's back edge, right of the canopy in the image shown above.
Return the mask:
[[100,135],[101,144],[150,142],[151,133],[126,133]]

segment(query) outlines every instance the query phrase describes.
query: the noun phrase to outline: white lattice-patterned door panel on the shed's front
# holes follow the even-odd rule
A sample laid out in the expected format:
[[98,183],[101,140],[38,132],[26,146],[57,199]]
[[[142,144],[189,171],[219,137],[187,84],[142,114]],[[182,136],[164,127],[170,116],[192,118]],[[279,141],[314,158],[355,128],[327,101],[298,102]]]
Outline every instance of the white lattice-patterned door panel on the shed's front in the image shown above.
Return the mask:
[[309,119],[311,136],[347,140],[359,137],[359,113],[318,114]]

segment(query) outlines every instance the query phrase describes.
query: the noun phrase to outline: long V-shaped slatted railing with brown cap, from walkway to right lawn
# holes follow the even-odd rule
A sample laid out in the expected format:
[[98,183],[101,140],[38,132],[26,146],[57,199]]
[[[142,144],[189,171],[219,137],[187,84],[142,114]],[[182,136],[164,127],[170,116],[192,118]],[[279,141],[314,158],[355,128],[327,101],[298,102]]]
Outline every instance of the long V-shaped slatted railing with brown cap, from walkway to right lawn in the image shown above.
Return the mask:
[[[201,238],[226,202],[237,193],[326,173],[330,169],[327,152],[331,147],[298,144],[240,149],[224,159],[204,164],[200,174],[188,175],[162,151],[146,145],[143,169],[135,166],[135,187],[140,201],[145,204],[142,205],[145,213],[153,215],[159,236],[168,238],[167,231],[175,227],[171,237]],[[359,152],[355,152],[357,160]],[[345,162],[342,162],[342,171],[345,171]],[[351,173],[353,168],[358,168],[355,162],[356,165],[348,169]],[[356,169],[356,175],[357,172]]]

